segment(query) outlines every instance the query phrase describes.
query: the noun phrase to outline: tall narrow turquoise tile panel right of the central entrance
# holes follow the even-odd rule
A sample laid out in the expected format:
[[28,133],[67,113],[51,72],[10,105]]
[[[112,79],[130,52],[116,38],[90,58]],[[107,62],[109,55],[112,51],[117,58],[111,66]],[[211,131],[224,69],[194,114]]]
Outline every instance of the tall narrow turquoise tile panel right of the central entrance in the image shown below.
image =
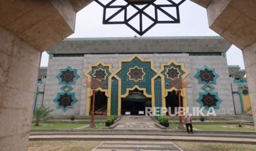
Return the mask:
[[162,107],[162,83],[160,77],[155,79],[155,107]]

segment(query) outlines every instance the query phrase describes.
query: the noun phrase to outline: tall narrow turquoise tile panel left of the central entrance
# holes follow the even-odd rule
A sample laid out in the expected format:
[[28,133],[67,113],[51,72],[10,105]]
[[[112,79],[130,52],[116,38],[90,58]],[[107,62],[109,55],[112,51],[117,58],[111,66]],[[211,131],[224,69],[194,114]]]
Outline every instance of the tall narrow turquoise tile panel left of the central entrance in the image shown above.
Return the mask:
[[118,80],[116,78],[112,78],[111,84],[111,115],[118,114]]

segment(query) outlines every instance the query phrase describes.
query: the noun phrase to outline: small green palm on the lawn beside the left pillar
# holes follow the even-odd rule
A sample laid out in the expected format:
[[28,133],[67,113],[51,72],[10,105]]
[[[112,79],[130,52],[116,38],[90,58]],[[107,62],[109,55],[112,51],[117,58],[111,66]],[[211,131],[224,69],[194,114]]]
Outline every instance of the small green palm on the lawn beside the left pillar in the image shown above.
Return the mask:
[[40,121],[47,119],[52,111],[54,111],[54,109],[51,109],[50,107],[45,107],[45,106],[36,107],[33,112],[33,119],[35,120],[35,126],[39,126]]

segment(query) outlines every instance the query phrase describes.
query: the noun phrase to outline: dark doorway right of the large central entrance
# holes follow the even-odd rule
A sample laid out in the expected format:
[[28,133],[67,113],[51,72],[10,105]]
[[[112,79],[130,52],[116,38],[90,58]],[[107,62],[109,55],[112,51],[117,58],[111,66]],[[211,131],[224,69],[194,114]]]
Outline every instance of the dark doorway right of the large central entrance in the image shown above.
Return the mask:
[[[175,108],[179,107],[179,97],[178,92],[173,90],[171,92],[168,92],[168,95],[165,98],[166,100],[166,107],[168,110],[171,108],[171,114],[175,114]],[[183,107],[182,103],[182,96],[181,96],[181,107]],[[178,108],[176,109],[178,111]],[[168,112],[166,113],[169,114]]]

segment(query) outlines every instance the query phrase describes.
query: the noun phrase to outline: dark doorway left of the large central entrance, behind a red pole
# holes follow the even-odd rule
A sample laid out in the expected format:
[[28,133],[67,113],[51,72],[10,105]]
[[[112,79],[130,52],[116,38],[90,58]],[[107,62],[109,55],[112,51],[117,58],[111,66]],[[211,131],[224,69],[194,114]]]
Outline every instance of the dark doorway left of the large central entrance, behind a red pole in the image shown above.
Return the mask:
[[[91,108],[92,110],[92,97],[91,96]],[[107,96],[105,92],[97,91],[95,94],[95,104],[94,104],[95,115],[106,115],[107,114]]]

